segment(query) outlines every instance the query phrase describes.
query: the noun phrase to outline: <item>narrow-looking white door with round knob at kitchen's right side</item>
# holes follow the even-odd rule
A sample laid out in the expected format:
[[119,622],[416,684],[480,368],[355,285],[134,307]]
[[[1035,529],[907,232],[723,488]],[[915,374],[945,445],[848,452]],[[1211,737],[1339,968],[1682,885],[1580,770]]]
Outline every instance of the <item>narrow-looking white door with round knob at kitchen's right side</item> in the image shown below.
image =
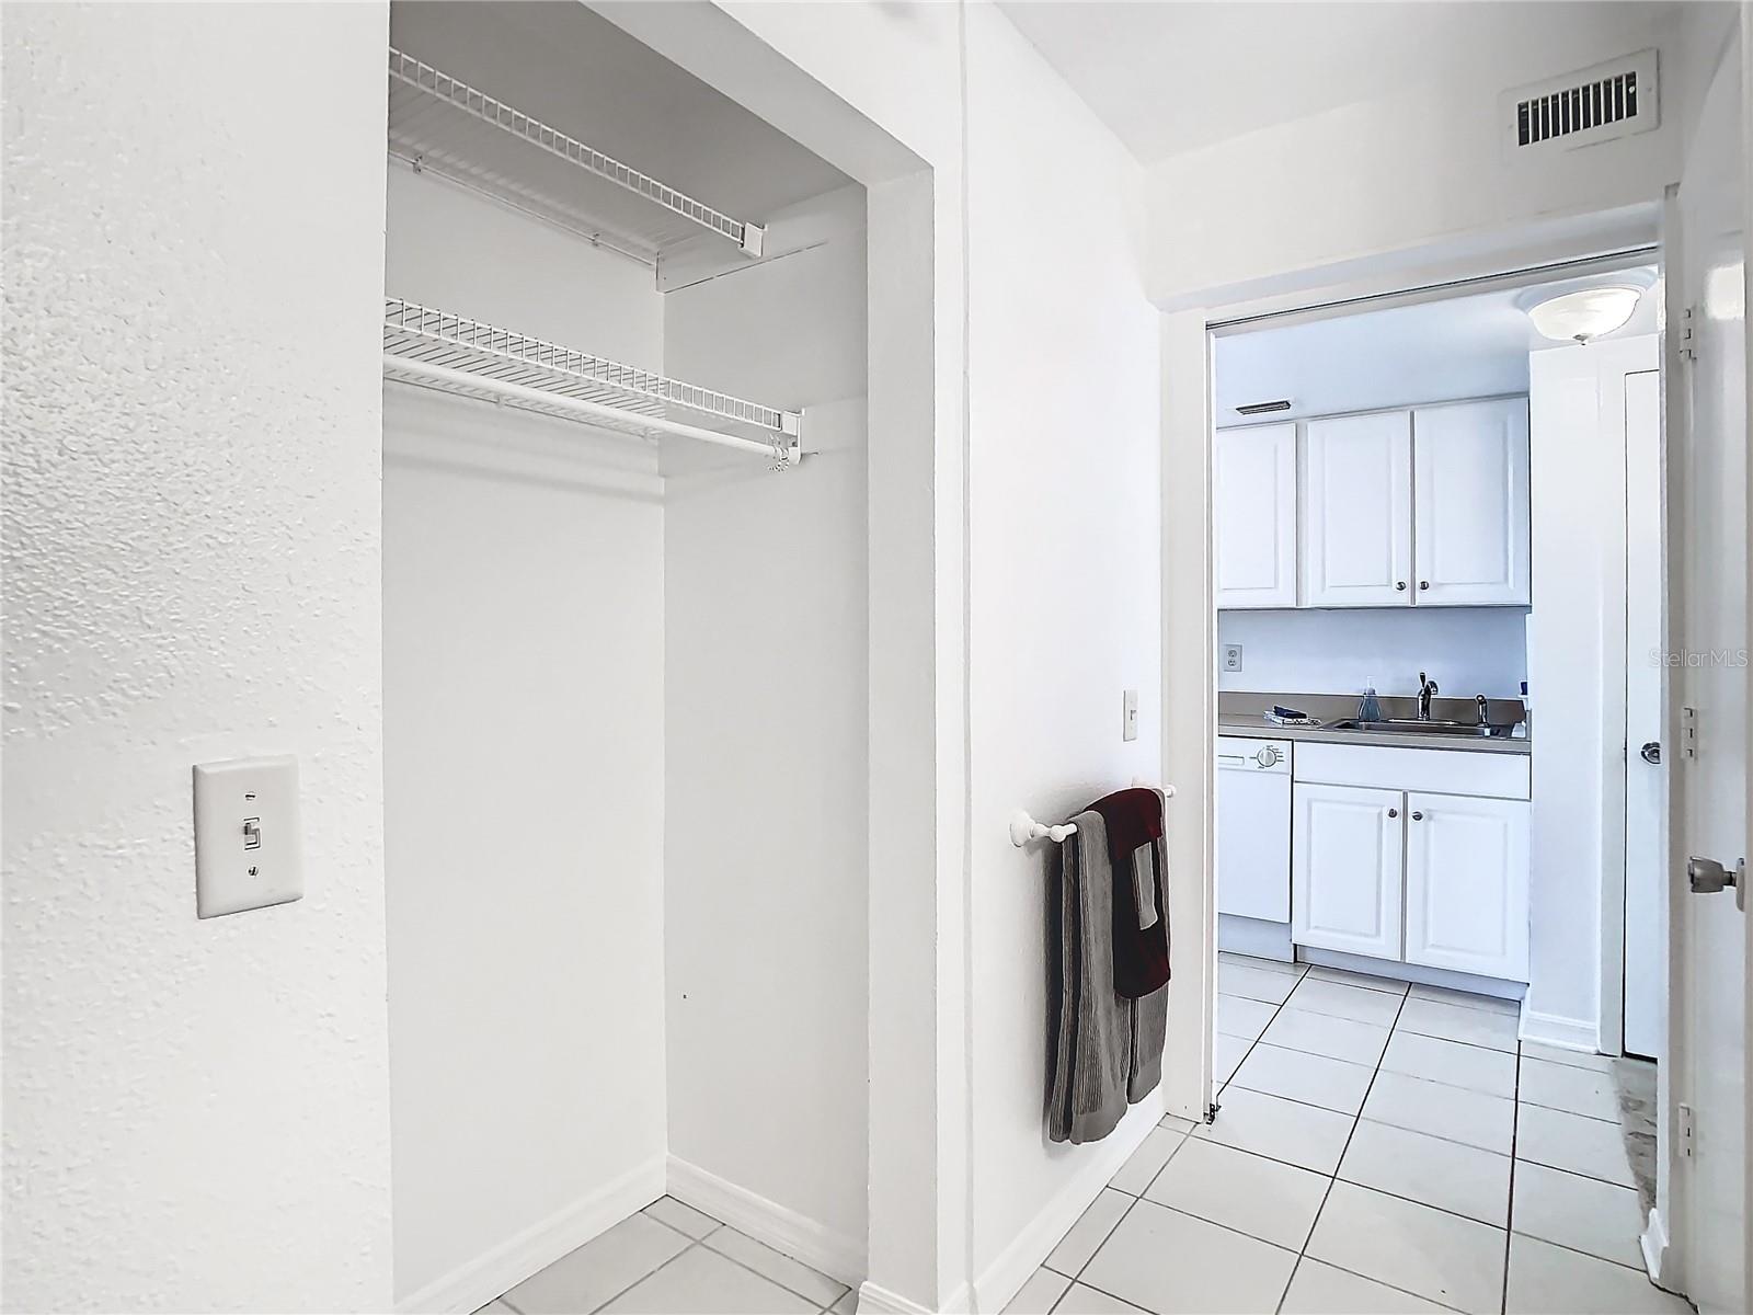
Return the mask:
[[1623,1048],[1664,1054],[1667,761],[1662,579],[1662,375],[1625,380],[1625,977]]

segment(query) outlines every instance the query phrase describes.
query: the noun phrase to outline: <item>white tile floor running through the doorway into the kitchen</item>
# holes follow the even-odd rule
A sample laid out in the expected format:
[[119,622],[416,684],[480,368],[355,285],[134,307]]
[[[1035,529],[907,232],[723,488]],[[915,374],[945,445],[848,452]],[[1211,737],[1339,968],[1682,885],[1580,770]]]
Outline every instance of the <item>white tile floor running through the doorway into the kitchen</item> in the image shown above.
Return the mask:
[[1164,1119],[1006,1306],[1681,1315],[1643,1273],[1608,1061],[1516,1006],[1222,956],[1222,1113]]

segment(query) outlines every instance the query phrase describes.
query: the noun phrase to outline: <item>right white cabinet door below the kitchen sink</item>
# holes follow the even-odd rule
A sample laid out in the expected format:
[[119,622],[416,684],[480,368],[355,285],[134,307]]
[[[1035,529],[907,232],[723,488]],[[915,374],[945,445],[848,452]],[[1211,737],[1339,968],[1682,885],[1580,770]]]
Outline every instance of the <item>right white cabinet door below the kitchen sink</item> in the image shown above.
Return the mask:
[[1406,963],[1529,980],[1529,805],[1408,794]]

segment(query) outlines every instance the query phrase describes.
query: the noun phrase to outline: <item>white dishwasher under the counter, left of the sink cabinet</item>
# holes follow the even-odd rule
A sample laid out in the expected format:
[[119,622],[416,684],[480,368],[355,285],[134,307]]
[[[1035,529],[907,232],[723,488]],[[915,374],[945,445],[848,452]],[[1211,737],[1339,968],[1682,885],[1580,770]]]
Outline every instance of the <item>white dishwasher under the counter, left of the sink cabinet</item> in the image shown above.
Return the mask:
[[1217,912],[1290,922],[1288,740],[1218,736]]

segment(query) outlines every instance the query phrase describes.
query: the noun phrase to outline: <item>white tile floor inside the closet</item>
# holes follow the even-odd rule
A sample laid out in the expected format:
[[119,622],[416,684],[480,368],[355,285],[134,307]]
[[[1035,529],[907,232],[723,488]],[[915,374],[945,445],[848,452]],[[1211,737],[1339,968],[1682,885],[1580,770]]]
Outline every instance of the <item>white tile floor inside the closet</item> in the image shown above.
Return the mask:
[[479,1315],[850,1315],[845,1283],[663,1198]]

